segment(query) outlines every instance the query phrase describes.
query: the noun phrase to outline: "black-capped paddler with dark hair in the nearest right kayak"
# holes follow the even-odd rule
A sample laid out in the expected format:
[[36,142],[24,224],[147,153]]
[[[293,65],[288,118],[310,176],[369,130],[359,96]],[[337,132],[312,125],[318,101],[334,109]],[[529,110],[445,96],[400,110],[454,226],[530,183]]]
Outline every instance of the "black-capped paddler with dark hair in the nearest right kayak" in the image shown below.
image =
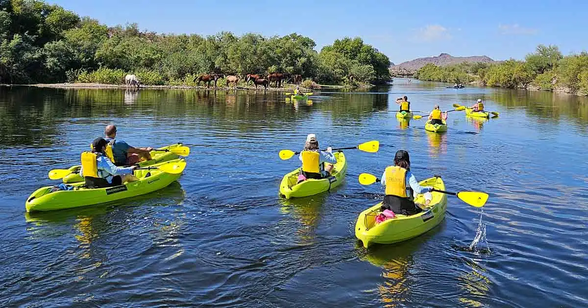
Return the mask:
[[[394,165],[386,167],[382,174],[381,183],[386,187],[386,196],[382,207],[402,215],[414,215],[422,212],[422,208],[415,204],[415,196],[429,193],[433,189],[430,186],[420,186],[416,181],[415,175],[410,172],[410,157],[405,150],[396,152]],[[429,203],[430,194],[425,194],[425,199]]]

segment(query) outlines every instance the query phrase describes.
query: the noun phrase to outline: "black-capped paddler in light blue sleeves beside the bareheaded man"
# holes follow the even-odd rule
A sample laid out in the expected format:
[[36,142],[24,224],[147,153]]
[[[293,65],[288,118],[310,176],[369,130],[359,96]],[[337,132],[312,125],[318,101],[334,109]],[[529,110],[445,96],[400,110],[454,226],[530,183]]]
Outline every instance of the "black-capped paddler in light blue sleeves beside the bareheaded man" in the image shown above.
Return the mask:
[[88,188],[118,186],[138,180],[132,175],[136,166],[116,167],[106,157],[107,145],[108,142],[104,138],[96,138],[92,142],[92,151],[82,153],[82,168],[79,170],[79,175],[84,178]]

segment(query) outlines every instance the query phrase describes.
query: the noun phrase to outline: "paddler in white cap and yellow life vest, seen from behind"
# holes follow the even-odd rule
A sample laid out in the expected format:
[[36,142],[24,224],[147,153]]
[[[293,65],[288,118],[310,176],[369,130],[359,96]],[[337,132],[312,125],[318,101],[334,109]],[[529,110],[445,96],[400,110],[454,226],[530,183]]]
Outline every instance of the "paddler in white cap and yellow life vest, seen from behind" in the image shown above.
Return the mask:
[[[306,136],[306,143],[300,152],[300,161],[302,161],[302,168],[300,168],[300,175],[298,181],[304,181],[308,178],[325,178],[329,177],[333,170],[333,165],[337,163],[335,155],[331,147],[326,151],[319,149],[319,141],[315,134],[308,134]],[[325,163],[328,163],[325,165]]]

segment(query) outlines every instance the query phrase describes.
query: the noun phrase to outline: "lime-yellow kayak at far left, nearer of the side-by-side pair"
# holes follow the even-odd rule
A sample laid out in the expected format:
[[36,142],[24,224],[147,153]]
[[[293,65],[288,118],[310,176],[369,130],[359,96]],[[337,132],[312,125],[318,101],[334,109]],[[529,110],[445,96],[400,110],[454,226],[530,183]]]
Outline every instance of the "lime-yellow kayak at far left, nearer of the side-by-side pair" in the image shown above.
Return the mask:
[[[183,163],[183,158],[173,160]],[[171,163],[166,161],[162,164]],[[157,165],[153,165],[156,167]],[[26,200],[26,211],[52,211],[64,208],[90,206],[123,198],[135,197],[151,193],[168,186],[178,180],[182,173],[165,173],[158,169],[135,170],[138,181],[108,188],[85,188],[84,182],[72,184],[74,190],[59,190],[51,192],[53,186],[41,187]]]

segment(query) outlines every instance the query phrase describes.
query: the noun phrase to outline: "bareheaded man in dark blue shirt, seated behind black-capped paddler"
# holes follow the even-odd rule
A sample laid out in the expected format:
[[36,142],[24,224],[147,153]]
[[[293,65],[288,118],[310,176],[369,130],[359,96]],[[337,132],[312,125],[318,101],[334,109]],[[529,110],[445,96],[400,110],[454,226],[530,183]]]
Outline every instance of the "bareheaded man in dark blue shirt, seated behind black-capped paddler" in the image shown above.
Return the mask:
[[[115,165],[133,165],[139,163],[141,160],[151,160],[150,151],[153,148],[135,148],[131,147],[128,143],[122,140],[115,140],[116,138],[116,126],[108,125],[104,129],[104,140],[108,142],[109,147],[112,149],[112,157],[114,158],[113,163]],[[108,153],[108,149],[106,150]]]

